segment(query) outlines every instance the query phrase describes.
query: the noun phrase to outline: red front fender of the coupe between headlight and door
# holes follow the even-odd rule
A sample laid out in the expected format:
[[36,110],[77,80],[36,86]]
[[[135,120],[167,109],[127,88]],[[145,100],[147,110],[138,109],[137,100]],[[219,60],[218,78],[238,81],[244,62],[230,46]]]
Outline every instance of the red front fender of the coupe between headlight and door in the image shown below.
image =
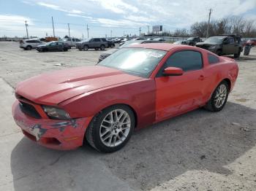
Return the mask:
[[84,93],[59,105],[76,118],[92,117],[108,106],[126,104],[134,110],[140,128],[155,121],[155,94],[154,79],[141,79]]

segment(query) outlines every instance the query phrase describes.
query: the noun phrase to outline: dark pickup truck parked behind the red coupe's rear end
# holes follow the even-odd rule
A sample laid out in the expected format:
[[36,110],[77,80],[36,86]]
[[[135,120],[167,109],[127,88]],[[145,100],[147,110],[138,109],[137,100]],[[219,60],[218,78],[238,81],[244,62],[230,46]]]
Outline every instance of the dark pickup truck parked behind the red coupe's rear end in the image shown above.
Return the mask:
[[214,52],[217,55],[234,55],[234,58],[239,58],[243,51],[241,36],[237,35],[211,36],[204,42],[198,42],[195,46]]

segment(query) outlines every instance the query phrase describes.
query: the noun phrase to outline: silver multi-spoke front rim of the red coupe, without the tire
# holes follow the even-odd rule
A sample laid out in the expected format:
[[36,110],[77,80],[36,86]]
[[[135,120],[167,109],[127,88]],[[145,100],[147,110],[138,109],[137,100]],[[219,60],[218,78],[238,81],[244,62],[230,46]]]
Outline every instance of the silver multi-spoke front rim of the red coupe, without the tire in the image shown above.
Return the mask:
[[107,147],[116,147],[127,139],[130,128],[129,114],[123,109],[115,109],[102,120],[99,128],[100,140]]

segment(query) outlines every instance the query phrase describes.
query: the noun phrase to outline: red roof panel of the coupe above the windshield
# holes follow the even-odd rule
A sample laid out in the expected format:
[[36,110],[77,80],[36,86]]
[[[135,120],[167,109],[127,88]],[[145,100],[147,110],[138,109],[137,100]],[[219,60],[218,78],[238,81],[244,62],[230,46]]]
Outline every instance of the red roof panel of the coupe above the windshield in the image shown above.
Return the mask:
[[[173,50],[177,47],[189,47],[189,48],[191,48],[191,46],[188,46],[188,45],[170,44],[170,43],[134,44],[134,45],[131,45],[130,47],[150,48],[150,49],[165,50],[165,51],[170,51],[170,50]],[[194,48],[197,49],[196,47],[194,47]]]

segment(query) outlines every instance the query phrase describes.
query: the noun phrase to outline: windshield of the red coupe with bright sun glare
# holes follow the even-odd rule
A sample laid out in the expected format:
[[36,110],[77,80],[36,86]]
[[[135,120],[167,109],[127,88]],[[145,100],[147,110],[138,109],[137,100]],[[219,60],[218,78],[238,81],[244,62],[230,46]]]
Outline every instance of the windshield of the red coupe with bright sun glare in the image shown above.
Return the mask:
[[149,77],[166,51],[144,48],[122,48],[98,63],[140,77]]

